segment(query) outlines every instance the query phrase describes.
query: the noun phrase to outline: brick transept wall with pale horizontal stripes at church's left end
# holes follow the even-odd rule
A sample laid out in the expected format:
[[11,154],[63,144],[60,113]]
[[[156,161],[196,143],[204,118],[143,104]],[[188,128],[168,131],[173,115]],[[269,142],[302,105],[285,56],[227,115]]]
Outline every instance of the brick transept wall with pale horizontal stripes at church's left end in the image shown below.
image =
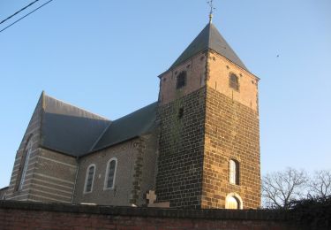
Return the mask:
[[[41,148],[43,97],[43,94],[41,94],[34,109],[34,114],[26,128],[26,134],[24,134],[19,145],[6,199],[71,203],[77,171],[76,159]],[[26,158],[26,145],[29,142],[32,142],[32,151],[27,162],[26,177],[21,190],[19,190],[19,181]]]

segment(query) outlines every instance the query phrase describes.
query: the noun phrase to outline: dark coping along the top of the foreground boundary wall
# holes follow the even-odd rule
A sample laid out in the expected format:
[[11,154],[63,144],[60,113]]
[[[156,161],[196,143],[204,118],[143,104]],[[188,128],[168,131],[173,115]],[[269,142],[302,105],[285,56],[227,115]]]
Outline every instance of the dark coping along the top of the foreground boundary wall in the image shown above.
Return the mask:
[[36,203],[0,201],[0,210],[56,211],[111,216],[154,217],[172,219],[222,219],[222,220],[290,220],[291,211],[275,210],[216,210],[216,209],[164,209],[129,206],[105,206],[88,204]]

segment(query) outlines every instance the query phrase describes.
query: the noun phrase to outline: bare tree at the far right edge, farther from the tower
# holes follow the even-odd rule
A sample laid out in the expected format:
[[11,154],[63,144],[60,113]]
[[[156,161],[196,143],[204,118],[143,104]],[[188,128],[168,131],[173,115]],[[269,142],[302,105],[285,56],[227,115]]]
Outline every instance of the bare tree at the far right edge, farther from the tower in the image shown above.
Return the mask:
[[313,196],[321,198],[331,196],[331,171],[315,171],[309,182],[309,188]]

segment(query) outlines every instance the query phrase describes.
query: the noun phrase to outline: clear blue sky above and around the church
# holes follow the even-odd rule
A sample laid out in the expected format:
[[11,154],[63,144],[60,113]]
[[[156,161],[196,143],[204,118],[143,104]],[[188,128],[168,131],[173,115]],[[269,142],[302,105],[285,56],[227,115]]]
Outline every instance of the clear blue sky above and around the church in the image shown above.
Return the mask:
[[[0,20],[30,2],[1,1]],[[261,79],[262,173],[330,168],[331,1],[214,2],[214,25]],[[0,188],[42,90],[109,119],[135,111],[207,14],[204,0],[54,0],[0,33]]]

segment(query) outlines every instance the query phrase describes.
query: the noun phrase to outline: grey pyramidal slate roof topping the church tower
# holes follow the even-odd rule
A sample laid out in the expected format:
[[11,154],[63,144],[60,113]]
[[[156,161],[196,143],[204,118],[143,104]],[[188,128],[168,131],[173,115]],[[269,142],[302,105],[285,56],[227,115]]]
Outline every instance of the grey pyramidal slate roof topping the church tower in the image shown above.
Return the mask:
[[244,63],[237,57],[235,51],[231,49],[228,42],[225,41],[220,32],[218,32],[217,28],[211,23],[207,24],[207,26],[199,33],[193,42],[191,42],[179,58],[177,58],[175,63],[171,65],[170,69],[207,49],[216,51],[224,58],[229,59],[229,61],[248,71],[246,66],[244,66]]

